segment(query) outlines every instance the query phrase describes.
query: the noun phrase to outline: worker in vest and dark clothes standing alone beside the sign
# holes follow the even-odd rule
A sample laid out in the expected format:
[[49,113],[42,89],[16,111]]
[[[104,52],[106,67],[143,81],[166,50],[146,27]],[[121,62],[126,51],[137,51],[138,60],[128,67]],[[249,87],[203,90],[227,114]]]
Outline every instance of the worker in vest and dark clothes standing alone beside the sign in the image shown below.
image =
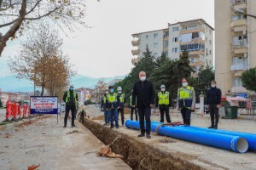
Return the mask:
[[64,117],[64,127],[67,127],[67,116],[69,111],[71,111],[71,126],[75,127],[74,119],[75,119],[75,111],[76,111],[76,103],[79,101],[78,94],[74,91],[74,86],[71,85],[69,90],[65,92],[63,95],[63,101],[66,103],[66,113]]

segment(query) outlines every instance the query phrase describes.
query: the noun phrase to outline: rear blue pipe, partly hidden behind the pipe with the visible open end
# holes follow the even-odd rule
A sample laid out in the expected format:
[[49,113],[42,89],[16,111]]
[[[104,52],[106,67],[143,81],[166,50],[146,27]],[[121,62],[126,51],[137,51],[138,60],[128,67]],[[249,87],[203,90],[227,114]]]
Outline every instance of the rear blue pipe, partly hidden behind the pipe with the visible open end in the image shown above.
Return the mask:
[[[160,122],[151,122],[159,124]],[[227,131],[227,130],[216,130],[216,129],[210,129],[205,127],[193,127],[193,126],[177,126],[179,128],[183,129],[195,129],[203,132],[209,132],[209,133],[221,133],[221,134],[228,134],[233,136],[240,136],[241,138],[247,139],[247,142],[249,144],[249,150],[256,151],[256,134],[253,133],[241,133],[241,132],[235,132],[235,131]]]

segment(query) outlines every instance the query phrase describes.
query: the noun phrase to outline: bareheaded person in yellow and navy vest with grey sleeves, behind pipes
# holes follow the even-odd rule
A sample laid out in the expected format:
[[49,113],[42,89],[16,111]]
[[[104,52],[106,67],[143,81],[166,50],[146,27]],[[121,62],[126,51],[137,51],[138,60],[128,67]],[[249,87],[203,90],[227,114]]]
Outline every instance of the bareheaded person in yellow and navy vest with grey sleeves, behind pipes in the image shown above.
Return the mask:
[[195,90],[188,86],[188,80],[182,79],[182,88],[177,90],[177,111],[181,111],[183,123],[190,126],[191,110],[195,110]]

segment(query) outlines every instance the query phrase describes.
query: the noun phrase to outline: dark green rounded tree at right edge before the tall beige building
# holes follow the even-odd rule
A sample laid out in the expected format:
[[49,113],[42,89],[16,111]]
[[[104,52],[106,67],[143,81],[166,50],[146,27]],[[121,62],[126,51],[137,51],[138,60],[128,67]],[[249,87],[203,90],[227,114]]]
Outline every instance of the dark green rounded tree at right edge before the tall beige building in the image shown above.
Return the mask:
[[249,69],[247,71],[244,71],[241,74],[241,82],[242,86],[247,88],[247,90],[252,90],[256,92],[256,67]]

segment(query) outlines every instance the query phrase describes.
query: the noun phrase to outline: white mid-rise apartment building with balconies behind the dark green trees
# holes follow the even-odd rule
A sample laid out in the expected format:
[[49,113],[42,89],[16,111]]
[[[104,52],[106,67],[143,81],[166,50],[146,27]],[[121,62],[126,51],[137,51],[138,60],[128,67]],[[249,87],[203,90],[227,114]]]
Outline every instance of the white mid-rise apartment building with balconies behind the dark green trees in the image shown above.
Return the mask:
[[154,57],[162,53],[171,59],[179,59],[184,49],[189,51],[190,65],[199,71],[206,65],[213,66],[213,28],[205,20],[188,20],[168,24],[168,28],[132,34],[131,54],[135,65],[146,47]]

